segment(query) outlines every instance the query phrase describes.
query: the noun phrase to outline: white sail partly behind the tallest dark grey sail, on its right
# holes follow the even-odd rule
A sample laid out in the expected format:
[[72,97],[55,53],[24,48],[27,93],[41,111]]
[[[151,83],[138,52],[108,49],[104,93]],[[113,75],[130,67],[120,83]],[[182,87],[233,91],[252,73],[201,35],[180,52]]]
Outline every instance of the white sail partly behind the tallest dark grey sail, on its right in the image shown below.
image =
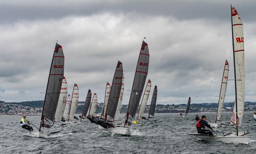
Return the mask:
[[142,98],[142,101],[141,101],[141,104],[140,104],[140,109],[139,109],[139,113],[138,113],[138,116],[137,116],[137,120],[141,120],[141,118],[144,114],[145,107],[146,107],[147,101],[148,101],[148,96],[149,96],[149,93],[150,93],[150,89],[151,89],[151,81],[148,79],[148,84],[146,86],[146,89],[144,91],[144,95],[143,95],[143,98]]

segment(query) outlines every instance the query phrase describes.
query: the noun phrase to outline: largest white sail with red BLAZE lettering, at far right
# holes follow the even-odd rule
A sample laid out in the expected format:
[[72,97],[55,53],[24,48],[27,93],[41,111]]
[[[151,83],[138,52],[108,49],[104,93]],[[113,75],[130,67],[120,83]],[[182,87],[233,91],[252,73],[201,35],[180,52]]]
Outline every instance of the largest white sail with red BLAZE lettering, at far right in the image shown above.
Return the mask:
[[[232,7],[232,22],[233,22],[233,40],[234,40],[234,59],[236,70],[236,99],[237,103],[237,124],[241,127],[244,114],[244,33],[242,21],[234,7]],[[233,120],[233,114],[235,120]],[[231,121],[236,124],[236,107],[233,109]]]

